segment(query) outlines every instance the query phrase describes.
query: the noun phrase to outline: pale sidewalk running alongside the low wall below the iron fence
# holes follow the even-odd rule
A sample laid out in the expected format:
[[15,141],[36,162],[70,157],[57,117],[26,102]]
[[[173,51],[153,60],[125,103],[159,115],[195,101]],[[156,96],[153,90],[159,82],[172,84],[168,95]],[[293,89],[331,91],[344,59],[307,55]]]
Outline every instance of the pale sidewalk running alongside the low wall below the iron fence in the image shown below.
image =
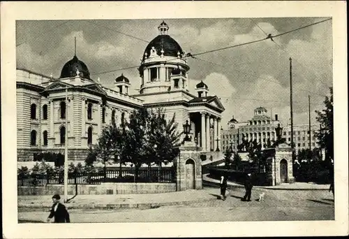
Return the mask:
[[[156,208],[161,205],[179,205],[216,200],[219,189],[174,191],[163,194],[77,195],[67,208]],[[62,197],[62,195],[61,195]],[[68,196],[72,198],[73,196]],[[50,208],[50,196],[18,196],[18,208]]]

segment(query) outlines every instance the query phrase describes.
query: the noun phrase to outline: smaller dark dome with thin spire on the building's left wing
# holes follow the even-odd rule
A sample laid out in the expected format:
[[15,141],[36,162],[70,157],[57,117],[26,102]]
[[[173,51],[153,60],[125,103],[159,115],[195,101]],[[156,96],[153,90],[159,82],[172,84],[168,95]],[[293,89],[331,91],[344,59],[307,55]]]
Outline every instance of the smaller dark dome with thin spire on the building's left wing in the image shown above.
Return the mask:
[[90,79],[89,69],[87,68],[86,64],[84,64],[84,62],[77,59],[76,55],[73,57],[73,59],[64,64],[60,78],[75,77],[77,75],[77,70],[79,71],[79,76],[81,78]]

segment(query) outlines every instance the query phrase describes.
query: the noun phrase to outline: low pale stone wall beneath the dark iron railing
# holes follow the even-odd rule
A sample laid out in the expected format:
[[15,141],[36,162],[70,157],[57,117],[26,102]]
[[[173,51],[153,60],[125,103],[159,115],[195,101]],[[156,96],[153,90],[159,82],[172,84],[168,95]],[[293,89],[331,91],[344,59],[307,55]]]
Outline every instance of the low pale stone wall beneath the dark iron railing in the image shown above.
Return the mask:
[[[77,191],[78,195],[89,194],[159,194],[176,191],[175,183],[102,183],[102,184],[74,184],[68,185],[68,195],[75,195]],[[17,195],[54,195],[64,194],[64,185],[61,184],[47,184],[43,187],[17,187]]]

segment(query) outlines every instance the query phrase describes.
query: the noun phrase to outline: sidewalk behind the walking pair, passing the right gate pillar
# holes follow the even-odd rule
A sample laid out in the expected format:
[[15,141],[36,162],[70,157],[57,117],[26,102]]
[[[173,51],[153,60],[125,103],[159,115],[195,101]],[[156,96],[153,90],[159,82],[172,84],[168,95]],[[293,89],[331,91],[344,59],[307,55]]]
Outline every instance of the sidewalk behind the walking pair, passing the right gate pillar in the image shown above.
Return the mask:
[[[219,180],[209,178],[208,174],[202,175],[203,182],[209,182],[211,184],[219,185]],[[236,182],[229,182],[228,186],[232,187],[244,187],[243,184],[237,184]],[[329,184],[313,184],[307,182],[295,182],[292,184],[280,184],[277,186],[253,186],[260,189],[272,189],[272,190],[328,190]]]

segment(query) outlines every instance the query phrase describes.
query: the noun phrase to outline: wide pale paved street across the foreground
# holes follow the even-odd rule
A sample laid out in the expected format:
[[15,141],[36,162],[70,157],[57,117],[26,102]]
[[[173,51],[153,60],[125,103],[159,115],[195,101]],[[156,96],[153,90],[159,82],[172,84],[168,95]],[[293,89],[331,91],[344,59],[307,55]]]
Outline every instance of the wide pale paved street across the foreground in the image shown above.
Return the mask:
[[[210,190],[209,192],[211,192]],[[217,188],[217,194],[219,189]],[[265,201],[258,202],[264,191]],[[334,201],[328,191],[253,189],[252,201],[243,202],[244,189],[230,189],[226,201],[214,200],[151,209],[72,209],[71,222],[210,222],[292,221],[334,219]],[[211,194],[216,198],[215,194]],[[19,222],[43,222],[48,212],[22,208]]]

